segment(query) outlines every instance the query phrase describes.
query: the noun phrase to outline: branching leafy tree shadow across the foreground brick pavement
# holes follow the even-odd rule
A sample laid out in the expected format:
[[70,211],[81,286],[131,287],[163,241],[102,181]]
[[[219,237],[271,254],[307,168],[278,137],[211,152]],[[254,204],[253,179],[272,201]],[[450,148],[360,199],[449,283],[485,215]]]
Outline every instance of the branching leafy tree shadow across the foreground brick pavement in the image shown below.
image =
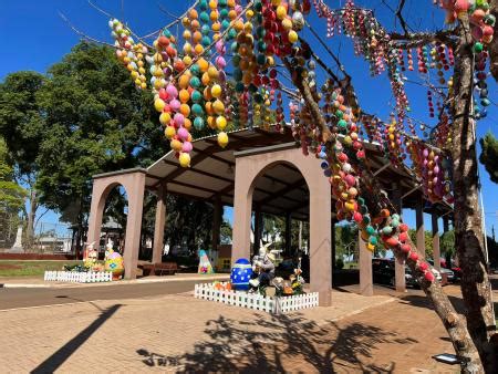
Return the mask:
[[416,340],[373,325],[351,323],[344,328],[333,321],[318,324],[302,314],[261,315],[258,321],[219,316],[206,323],[204,340],[191,352],[167,355],[143,347],[137,354],[147,366],[185,372],[318,372],[335,367],[347,371],[392,372],[363,361],[373,357],[378,344],[413,344]]

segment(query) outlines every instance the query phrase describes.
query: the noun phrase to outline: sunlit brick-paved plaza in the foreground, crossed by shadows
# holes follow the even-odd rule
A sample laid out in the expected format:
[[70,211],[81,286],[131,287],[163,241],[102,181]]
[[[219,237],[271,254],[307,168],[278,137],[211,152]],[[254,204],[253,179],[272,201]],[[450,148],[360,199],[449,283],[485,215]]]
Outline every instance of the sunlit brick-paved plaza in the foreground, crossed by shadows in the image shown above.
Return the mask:
[[15,373],[458,371],[432,359],[453,347],[422,295],[334,292],[332,308],[284,316],[191,293],[2,311],[0,367]]

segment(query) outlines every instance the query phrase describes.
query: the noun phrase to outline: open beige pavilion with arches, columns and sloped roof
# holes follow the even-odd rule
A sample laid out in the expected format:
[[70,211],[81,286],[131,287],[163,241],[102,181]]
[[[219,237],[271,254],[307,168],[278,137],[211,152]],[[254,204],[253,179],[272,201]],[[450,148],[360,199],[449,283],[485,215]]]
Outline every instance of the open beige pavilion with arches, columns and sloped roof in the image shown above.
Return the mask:
[[[314,156],[304,157],[289,132],[281,134],[274,128],[264,131],[253,127],[229,135],[232,142],[226,148],[218,146],[215,136],[195,141],[188,168],[179,167],[174,152],[169,152],[148,168],[95,175],[87,241],[96,241],[101,237],[105,199],[117,185],[123,186],[128,197],[124,250],[125,278],[128,279],[136,277],[145,190],[157,196],[152,258],[154,263],[160,262],[163,253],[166,194],[201,199],[214,205],[214,249],[219,245],[222,207],[234,207],[232,262],[253,254],[250,252],[252,215],[256,247],[260,242],[261,214],[286,217],[286,246],[290,246],[290,220],[309,220],[310,288],[320,292],[321,304],[329,304],[335,250],[335,200],[330,194],[329,180],[323,178],[321,160]],[[423,248],[425,242],[423,212],[433,215],[434,256],[437,258],[437,218],[449,218],[450,209],[444,204],[427,204],[419,184],[408,169],[385,162],[377,144],[363,144],[371,165],[374,165],[372,172],[381,180],[385,194],[397,201],[400,208],[416,210],[418,248]],[[362,240],[359,242],[364,246]],[[360,251],[360,284],[363,294],[373,293],[371,258],[370,251]],[[397,290],[404,290],[404,264],[397,263]]]

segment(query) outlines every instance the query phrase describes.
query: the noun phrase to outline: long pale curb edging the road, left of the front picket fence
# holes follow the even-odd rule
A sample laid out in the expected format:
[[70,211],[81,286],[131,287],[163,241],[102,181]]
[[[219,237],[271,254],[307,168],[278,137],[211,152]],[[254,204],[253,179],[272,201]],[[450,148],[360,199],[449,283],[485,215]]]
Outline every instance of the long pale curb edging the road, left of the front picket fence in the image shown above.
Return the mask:
[[148,284],[148,283],[169,283],[169,282],[191,282],[191,281],[215,281],[215,280],[228,280],[230,276],[215,276],[209,278],[200,277],[185,277],[176,279],[143,279],[143,280],[121,280],[113,282],[100,282],[100,283],[0,283],[0,289],[62,289],[62,288],[83,288],[83,287],[110,287],[110,285],[135,285],[135,284]]

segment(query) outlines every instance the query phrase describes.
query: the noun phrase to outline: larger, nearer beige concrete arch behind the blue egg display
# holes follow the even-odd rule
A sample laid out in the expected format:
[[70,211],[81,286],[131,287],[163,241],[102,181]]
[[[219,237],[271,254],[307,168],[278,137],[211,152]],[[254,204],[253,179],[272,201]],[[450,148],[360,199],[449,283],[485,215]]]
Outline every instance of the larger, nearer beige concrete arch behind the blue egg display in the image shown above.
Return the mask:
[[310,287],[320,293],[320,304],[329,305],[332,288],[332,218],[331,190],[320,162],[305,157],[295,147],[271,148],[267,152],[236,154],[234,197],[232,261],[248,258],[252,194],[259,176],[277,164],[291,164],[307,181],[310,191]]

